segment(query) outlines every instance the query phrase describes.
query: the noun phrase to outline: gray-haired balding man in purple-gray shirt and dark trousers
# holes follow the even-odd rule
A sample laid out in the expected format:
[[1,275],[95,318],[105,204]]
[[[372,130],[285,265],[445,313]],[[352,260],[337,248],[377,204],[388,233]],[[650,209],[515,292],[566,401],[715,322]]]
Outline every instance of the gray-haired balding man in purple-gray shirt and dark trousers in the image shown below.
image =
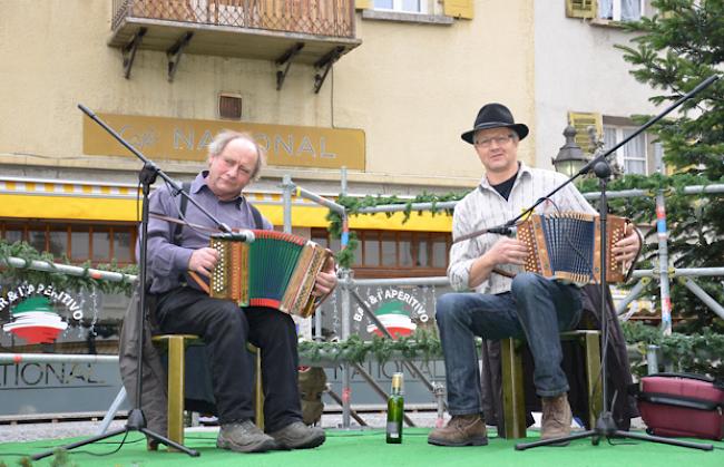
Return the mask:
[[[221,133],[209,145],[208,169],[190,184],[189,195],[232,228],[272,230],[271,222],[242,193],[258,177],[263,150],[248,134]],[[154,214],[178,218],[180,201],[168,186],[149,200]],[[321,428],[302,421],[297,387],[297,335],[292,318],[278,310],[239,309],[213,299],[188,271],[208,278],[219,260],[209,247],[209,220],[193,204],[183,216],[188,223],[177,235],[176,224],[154,216],[148,225],[150,293],[157,296],[155,318],[164,333],[197,334],[206,347],[221,431],[216,445],[239,453],[314,448],[324,442]],[[197,228],[195,225],[211,227]],[[313,294],[325,296],[336,285],[330,262],[316,276]],[[254,368],[244,354],[246,343],[262,352],[266,434],[253,422]]]

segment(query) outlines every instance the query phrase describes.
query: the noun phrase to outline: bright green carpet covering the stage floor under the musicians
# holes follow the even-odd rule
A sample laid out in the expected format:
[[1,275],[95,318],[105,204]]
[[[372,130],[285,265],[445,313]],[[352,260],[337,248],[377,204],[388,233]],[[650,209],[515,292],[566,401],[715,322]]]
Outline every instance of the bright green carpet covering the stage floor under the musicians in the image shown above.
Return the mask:
[[[18,426],[22,429],[22,426]],[[595,467],[708,467],[724,466],[724,442],[714,442],[714,451],[701,451],[645,441],[616,439],[603,440],[591,446],[590,439],[579,439],[568,447],[540,447],[516,451],[516,441],[491,437],[486,447],[443,448],[427,444],[429,429],[408,428],[401,445],[384,442],[384,432],[374,430],[327,430],[324,445],[311,450],[274,451],[266,454],[236,454],[217,449],[213,432],[189,432],[186,446],[198,449],[200,457],[185,454],[147,453],[143,436],[128,435],[117,453],[118,437],[70,451],[66,466],[254,466],[254,467],[375,467],[375,466],[595,466]],[[535,439],[536,432],[530,432]],[[53,441],[9,442],[0,445],[0,459],[8,467],[20,465],[22,456],[38,454],[63,444],[81,440],[74,438]],[[703,441],[701,441],[703,442]],[[91,454],[92,453],[92,454]],[[95,454],[95,455],[94,455]],[[100,456],[107,454],[105,456]],[[53,465],[53,457],[39,460],[33,466]]]

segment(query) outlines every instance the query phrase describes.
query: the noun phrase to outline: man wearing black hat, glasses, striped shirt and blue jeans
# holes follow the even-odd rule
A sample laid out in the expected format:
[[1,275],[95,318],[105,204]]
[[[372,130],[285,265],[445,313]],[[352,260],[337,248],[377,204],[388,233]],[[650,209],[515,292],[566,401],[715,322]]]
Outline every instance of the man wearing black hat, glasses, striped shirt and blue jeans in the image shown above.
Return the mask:
[[[474,146],[486,174],[480,185],[456,206],[453,239],[505,224],[566,182],[562,174],[531,168],[518,160],[518,144],[526,136],[528,127],[515,123],[510,110],[501,104],[483,106],[473,128],[461,135]],[[573,184],[539,208],[551,205],[560,211],[596,214]],[[630,262],[639,244],[638,235],[632,231],[612,252],[617,261]],[[444,294],[436,303],[446,361],[448,410],[452,417],[446,427],[430,432],[428,442],[488,444],[481,415],[477,335],[490,340],[510,337],[527,340],[534,357],[534,383],[542,400],[541,438],[570,434],[573,417],[568,381],[560,368],[559,332],[578,323],[580,289],[522,272],[527,254],[524,243],[496,234],[452,245],[448,278],[459,292]]]

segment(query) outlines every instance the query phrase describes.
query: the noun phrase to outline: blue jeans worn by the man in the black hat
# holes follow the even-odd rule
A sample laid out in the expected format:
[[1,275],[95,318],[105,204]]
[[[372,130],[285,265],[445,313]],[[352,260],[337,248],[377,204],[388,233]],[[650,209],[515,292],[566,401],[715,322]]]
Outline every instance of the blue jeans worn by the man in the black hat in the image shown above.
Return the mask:
[[510,292],[448,293],[436,305],[450,415],[482,411],[476,335],[489,340],[525,338],[534,358],[538,396],[568,391],[568,380],[560,368],[559,332],[573,329],[580,319],[577,286],[521,273],[512,280]]

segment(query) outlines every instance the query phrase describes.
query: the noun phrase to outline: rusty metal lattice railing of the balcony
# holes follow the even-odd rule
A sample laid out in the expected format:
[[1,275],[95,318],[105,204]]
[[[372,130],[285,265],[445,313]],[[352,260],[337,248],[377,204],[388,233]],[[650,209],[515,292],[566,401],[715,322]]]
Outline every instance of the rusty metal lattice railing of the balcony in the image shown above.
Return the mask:
[[354,38],[354,0],[114,0],[126,18]]

